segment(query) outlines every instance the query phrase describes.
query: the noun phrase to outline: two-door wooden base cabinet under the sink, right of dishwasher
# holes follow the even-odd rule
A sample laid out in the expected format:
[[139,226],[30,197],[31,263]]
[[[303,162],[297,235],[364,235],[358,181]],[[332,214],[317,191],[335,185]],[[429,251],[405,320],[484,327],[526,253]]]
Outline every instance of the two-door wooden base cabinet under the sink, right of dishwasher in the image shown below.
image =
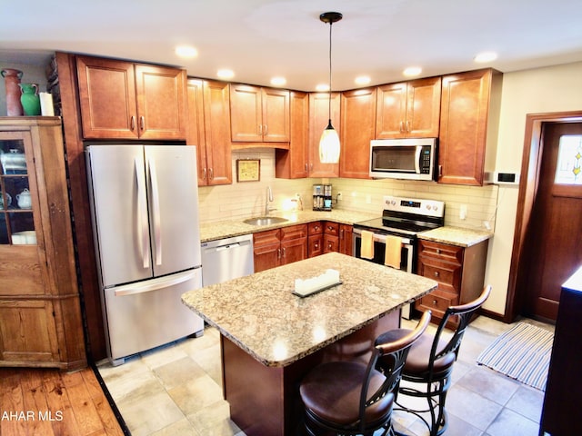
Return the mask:
[[307,224],[253,234],[255,272],[307,258]]

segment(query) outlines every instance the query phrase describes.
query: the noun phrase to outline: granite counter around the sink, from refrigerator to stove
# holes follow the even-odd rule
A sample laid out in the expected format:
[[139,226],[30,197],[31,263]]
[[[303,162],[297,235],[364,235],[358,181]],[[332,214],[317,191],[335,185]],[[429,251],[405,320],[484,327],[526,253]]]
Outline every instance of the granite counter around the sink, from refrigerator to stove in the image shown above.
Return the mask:
[[216,221],[212,223],[200,224],[200,240],[202,243],[209,241],[216,241],[217,239],[230,238],[233,236],[240,236],[241,234],[249,234],[262,232],[264,230],[276,229],[286,227],[288,225],[313,223],[320,220],[329,220],[336,223],[353,224],[359,221],[366,221],[372,218],[377,218],[380,213],[361,213],[333,210],[325,211],[297,211],[289,213],[271,213],[270,216],[277,216],[286,218],[285,223],[276,223],[271,225],[252,225],[244,223],[244,218],[239,220]]

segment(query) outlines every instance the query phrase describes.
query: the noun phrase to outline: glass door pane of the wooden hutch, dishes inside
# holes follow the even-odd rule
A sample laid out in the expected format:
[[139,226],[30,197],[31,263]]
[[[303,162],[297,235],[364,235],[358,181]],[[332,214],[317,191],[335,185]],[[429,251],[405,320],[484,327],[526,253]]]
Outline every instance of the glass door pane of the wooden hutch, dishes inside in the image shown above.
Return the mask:
[[0,133],[0,244],[36,244],[30,147],[27,133]]

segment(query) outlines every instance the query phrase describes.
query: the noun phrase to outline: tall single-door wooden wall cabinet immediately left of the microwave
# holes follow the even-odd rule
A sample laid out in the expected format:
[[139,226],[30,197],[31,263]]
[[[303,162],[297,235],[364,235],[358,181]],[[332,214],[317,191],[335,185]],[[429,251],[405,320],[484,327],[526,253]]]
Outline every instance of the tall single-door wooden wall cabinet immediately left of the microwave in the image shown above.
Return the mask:
[[370,141],[376,129],[376,88],[342,93],[341,120],[339,176],[369,179]]

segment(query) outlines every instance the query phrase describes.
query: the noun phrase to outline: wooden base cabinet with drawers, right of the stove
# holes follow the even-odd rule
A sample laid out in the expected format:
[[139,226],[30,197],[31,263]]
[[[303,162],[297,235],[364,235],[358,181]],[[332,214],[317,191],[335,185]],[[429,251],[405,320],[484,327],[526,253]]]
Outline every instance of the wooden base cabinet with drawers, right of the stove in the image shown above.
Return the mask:
[[438,287],[415,302],[416,310],[432,311],[437,323],[448,306],[475,300],[483,292],[487,245],[487,240],[460,247],[419,239],[416,273],[436,280]]

